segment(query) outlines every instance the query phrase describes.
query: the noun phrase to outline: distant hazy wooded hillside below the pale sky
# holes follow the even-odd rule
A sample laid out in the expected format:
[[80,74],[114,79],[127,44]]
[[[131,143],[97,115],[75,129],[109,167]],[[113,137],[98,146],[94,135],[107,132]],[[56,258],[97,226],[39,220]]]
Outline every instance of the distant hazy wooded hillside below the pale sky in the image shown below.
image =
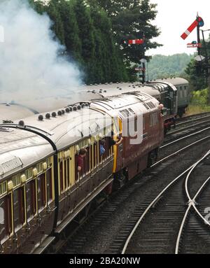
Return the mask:
[[172,56],[153,56],[148,63],[149,80],[178,76],[183,77],[190,59],[192,59],[192,56],[186,53]]

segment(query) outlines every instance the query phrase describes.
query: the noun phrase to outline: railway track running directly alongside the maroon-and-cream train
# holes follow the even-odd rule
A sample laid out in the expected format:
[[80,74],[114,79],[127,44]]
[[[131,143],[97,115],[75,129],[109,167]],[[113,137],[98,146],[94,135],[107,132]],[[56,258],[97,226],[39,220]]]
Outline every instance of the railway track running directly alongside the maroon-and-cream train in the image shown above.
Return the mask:
[[[69,237],[65,238],[67,243],[64,243],[62,248],[57,250],[57,253],[120,253],[132,228],[149,204],[160,193],[160,189],[164,189],[171,183],[172,178],[179,175],[181,169],[184,170],[190,164],[193,164],[195,159],[192,159],[192,152],[195,153],[194,157],[198,157],[197,154],[200,157],[204,148],[210,145],[208,132],[209,128],[202,129],[198,134],[190,134],[186,138],[181,138],[180,141],[184,141],[185,146],[180,148],[179,145],[179,150],[174,150],[168,155],[165,154],[170,145],[173,144],[172,147],[174,148],[176,142],[165,144],[161,149],[162,152],[165,152],[160,152],[162,159],[146,171],[144,175],[130,182],[128,188],[120,190],[116,196],[109,199],[109,202],[105,202],[96,213],[93,213],[87,219],[85,225],[78,227],[73,235],[70,234]],[[200,139],[197,135],[200,135]],[[193,142],[192,139],[195,139],[195,141]],[[188,144],[186,145],[186,143]],[[206,145],[204,146],[204,144]],[[177,162],[179,163],[179,157],[182,156],[185,157],[186,162],[177,164]],[[172,165],[174,168],[172,168]],[[170,178],[168,176],[169,168],[174,169]],[[179,195],[179,190],[174,189],[174,195]],[[187,200],[183,194],[181,194],[180,200],[181,207],[185,209]],[[180,216],[180,214],[177,213],[177,216]],[[182,218],[179,220],[182,220]]]

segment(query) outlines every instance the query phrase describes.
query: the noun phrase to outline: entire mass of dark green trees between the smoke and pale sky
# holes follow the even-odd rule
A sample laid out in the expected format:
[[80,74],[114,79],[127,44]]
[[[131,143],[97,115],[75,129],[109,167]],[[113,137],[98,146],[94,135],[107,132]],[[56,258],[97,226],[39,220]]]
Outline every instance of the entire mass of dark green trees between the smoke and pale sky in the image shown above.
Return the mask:
[[[65,54],[85,73],[85,83],[136,80],[130,68],[157,43],[156,5],[149,0],[29,0],[38,13],[48,13],[52,31],[66,47]],[[143,38],[145,45],[127,45],[130,38]]]

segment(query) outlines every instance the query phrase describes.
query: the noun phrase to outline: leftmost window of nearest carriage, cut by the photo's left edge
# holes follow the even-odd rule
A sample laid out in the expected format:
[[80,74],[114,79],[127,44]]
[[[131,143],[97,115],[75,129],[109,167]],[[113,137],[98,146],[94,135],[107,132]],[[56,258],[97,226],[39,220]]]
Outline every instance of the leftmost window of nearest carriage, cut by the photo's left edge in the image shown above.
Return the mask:
[[0,199],[0,241],[12,232],[11,195]]

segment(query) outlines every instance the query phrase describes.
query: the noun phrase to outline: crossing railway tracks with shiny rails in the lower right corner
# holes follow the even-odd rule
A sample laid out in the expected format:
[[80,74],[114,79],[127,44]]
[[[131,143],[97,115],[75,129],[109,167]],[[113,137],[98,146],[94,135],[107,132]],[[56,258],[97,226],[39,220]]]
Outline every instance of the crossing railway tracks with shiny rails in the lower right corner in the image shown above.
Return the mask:
[[204,215],[210,206],[209,164],[210,151],[153,199],[127,238],[123,254],[209,253],[210,224]]

